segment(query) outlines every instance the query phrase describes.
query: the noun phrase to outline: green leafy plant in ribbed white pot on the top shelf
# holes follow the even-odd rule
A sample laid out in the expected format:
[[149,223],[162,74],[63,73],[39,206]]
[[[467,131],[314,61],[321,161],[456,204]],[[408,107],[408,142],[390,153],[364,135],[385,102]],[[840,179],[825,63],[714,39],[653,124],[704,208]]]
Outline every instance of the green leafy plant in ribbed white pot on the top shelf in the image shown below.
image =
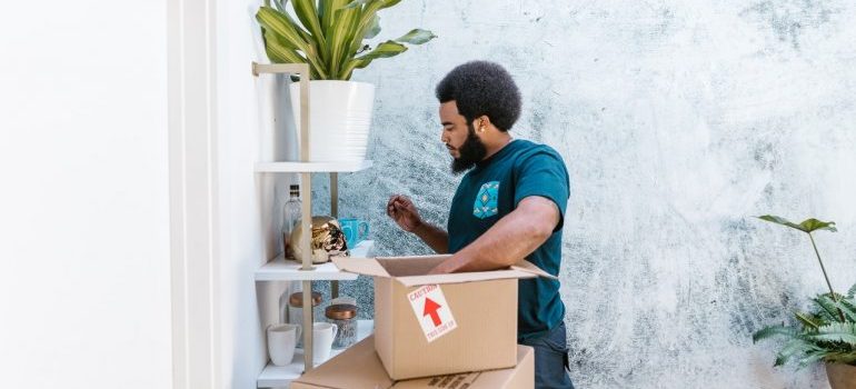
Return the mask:
[[[364,43],[380,32],[378,11],[400,1],[292,0],[287,10],[283,0],[273,0],[273,7],[266,0],[256,13],[271,62],[309,64],[310,137],[322,140],[310,144],[312,161],[365,159],[375,86],[349,81],[351,74],[378,58],[407,51],[405,43],[421,44],[436,38],[431,31],[415,29],[374,48]],[[299,86],[291,84],[297,123],[299,92]]]

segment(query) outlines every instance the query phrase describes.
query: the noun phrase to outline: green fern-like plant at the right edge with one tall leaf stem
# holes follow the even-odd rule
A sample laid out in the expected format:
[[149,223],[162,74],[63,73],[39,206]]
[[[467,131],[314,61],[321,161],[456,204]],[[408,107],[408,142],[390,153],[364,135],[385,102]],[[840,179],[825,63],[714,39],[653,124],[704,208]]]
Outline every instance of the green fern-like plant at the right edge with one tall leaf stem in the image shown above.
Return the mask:
[[808,235],[829,292],[812,299],[813,309],[809,312],[795,312],[796,325],[764,328],[753,335],[753,341],[769,337],[785,338],[786,343],[776,356],[774,366],[782,366],[790,359],[796,359],[799,368],[824,361],[833,389],[856,389],[856,285],[846,296],[833,290],[812,236],[812,232],[818,230],[837,231],[835,222],[807,219],[797,225],[772,215],[758,218]]

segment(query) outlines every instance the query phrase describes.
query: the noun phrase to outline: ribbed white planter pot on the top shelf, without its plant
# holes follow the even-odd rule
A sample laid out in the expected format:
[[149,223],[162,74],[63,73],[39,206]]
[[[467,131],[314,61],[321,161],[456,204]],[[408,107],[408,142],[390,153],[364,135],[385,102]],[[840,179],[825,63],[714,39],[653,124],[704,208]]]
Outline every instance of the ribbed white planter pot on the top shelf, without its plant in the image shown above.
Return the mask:
[[[290,87],[300,141],[300,84]],[[368,150],[375,86],[356,81],[309,81],[309,160],[361,161]]]

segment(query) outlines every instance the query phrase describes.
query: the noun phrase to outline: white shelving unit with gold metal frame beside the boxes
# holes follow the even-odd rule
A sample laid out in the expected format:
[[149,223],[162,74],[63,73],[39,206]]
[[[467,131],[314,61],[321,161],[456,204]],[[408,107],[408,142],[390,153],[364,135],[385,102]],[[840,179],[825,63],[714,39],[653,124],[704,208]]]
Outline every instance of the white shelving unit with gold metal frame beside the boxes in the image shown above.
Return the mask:
[[[257,173],[299,173],[300,174],[300,198],[302,199],[301,215],[309,216],[312,212],[311,207],[311,173],[330,174],[330,216],[338,218],[339,213],[339,177],[340,172],[357,172],[371,167],[371,161],[347,161],[347,162],[312,162],[309,156],[309,66],[306,63],[275,63],[259,64],[252,63],[252,74],[258,77],[260,73],[280,73],[296,74],[300,77],[300,139],[299,144],[300,161],[285,162],[259,162],[256,163]],[[310,231],[311,218],[301,219],[303,231]],[[331,298],[339,295],[339,280],[355,280],[357,275],[339,271],[335,265],[321,263],[313,265],[311,260],[311,250],[309,239],[311,233],[303,233],[299,242],[300,251],[303,253],[300,261],[285,260],[282,256],[269,261],[256,271],[256,281],[301,281],[302,290],[311,290],[312,281],[330,281]],[[371,255],[374,241],[364,241],[352,248],[351,257],[365,258]],[[312,318],[312,305],[310,293],[303,293],[303,322],[302,328],[312,328],[313,321],[322,321],[322,318]],[[358,323],[357,336],[364,339],[374,332],[372,320],[360,320]],[[312,331],[303,331],[305,350],[296,352],[295,360],[289,366],[277,367],[268,363],[257,379],[257,387],[273,388],[288,386],[291,380],[302,375],[305,371],[313,368],[312,359]],[[332,355],[338,355],[341,350],[335,350]]]

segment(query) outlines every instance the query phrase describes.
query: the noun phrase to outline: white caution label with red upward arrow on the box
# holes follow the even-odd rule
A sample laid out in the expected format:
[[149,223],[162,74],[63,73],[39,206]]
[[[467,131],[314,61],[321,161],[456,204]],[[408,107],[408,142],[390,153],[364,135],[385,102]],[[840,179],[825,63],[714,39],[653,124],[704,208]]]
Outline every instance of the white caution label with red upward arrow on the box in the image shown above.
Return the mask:
[[407,293],[407,299],[429,343],[458,327],[439,285],[419,287]]

